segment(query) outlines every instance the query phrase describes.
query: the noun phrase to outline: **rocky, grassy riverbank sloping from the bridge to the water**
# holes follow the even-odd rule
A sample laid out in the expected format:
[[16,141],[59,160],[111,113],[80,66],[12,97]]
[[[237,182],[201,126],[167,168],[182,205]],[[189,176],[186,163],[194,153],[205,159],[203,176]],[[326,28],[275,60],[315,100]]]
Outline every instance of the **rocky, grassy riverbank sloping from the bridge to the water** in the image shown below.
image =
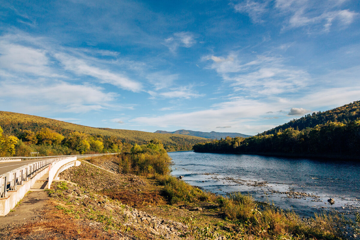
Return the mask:
[[[59,175],[50,209],[4,239],[345,239],[337,218],[301,219],[251,196],[226,199],[169,175],[122,174],[116,156]],[[16,211],[16,208],[15,208]]]

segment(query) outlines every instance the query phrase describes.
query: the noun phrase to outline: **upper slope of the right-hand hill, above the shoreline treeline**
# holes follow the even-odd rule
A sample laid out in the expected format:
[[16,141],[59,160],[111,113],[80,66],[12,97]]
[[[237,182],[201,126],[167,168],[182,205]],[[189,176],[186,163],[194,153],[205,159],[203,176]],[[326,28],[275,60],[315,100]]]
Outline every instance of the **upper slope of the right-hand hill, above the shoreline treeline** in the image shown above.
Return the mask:
[[274,134],[289,127],[301,131],[307,127],[313,128],[316,125],[325,124],[329,121],[346,124],[347,122],[355,121],[358,118],[360,118],[360,101],[354,101],[353,103],[327,110],[325,112],[314,112],[312,114],[307,114],[304,117],[293,119],[288,123],[277,126],[271,130],[267,130],[261,134]]

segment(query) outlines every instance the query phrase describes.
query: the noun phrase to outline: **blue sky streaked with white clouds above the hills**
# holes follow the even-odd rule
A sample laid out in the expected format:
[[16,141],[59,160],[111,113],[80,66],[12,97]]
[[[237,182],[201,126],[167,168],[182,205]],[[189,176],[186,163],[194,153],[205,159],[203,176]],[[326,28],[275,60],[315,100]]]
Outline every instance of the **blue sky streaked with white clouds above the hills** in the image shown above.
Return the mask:
[[0,0],[0,110],[255,135],[360,100],[358,0]]

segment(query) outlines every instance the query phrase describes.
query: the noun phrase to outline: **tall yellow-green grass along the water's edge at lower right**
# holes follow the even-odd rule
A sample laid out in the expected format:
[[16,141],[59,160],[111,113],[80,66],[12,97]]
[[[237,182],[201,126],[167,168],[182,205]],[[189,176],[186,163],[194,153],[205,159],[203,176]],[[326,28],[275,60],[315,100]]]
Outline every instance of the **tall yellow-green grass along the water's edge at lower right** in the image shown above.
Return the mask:
[[238,223],[246,234],[260,237],[297,236],[296,239],[342,239],[341,220],[337,216],[315,215],[310,224],[293,213],[285,213],[270,205],[261,207],[252,196],[241,193],[217,197],[224,218]]

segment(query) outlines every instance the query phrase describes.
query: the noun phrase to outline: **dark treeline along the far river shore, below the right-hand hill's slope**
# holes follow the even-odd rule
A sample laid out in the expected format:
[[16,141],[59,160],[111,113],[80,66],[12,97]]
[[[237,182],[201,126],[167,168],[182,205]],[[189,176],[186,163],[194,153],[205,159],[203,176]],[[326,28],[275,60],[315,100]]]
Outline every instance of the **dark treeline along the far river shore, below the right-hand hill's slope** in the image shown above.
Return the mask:
[[313,128],[296,130],[292,127],[274,134],[226,137],[193,146],[197,152],[270,153],[289,155],[323,155],[359,158],[360,120],[342,123],[328,122]]

